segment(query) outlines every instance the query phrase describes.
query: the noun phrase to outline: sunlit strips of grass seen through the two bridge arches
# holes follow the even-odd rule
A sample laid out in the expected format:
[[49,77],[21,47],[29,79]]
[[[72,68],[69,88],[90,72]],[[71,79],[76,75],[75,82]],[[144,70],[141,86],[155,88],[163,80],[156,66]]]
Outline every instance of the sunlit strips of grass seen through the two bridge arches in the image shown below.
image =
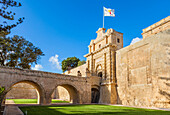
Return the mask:
[[[15,104],[36,104],[37,103],[37,99],[7,99],[7,100],[13,100]],[[69,101],[61,101],[61,100],[52,99],[52,103],[69,103]]]

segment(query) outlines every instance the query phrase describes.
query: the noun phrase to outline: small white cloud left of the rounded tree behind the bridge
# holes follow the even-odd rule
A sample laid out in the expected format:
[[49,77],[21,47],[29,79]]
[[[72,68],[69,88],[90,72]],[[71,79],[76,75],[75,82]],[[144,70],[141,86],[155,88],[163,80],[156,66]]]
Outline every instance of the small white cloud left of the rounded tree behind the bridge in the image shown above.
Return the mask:
[[50,57],[49,62],[51,62],[57,69],[61,70],[61,65],[58,60],[58,55]]

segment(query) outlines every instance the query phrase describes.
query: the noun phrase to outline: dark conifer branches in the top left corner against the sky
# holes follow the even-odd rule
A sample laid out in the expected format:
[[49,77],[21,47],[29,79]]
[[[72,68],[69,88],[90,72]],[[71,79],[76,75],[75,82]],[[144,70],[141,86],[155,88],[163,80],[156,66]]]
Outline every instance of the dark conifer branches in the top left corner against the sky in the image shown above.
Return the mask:
[[14,20],[14,15],[12,11],[7,11],[9,7],[20,7],[21,3],[14,0],[0,0],[1,8],[0,8],[0,16],[3,17],[1,19],[2,23],[0,24],[0,36],[8,35],[11,32],[11,29],[16,27],[18,24],[22,23],[23,18],[19,18],[15,24],[9,25],[7,20]]

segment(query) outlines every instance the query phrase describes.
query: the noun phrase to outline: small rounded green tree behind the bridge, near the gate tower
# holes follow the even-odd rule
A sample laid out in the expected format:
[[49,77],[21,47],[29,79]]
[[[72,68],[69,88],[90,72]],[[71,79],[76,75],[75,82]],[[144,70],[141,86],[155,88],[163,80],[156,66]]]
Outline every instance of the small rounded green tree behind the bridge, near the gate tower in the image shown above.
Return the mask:
[[78,62],[80,61],[77,57],[68,57],[67,59],[62,61],[62,70],[65,72],[68,69],[72,69],[77,67]]

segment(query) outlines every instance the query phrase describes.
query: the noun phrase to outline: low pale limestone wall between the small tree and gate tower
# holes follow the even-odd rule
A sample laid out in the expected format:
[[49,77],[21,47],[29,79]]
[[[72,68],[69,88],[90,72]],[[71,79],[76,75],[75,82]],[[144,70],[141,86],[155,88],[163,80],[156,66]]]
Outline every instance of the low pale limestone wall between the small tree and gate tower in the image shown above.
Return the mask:
[[65,74],[77,76],[78,71],[80,71],[82,77],[86,77],[86,64],[83,64],[69,71],[66,71]]

